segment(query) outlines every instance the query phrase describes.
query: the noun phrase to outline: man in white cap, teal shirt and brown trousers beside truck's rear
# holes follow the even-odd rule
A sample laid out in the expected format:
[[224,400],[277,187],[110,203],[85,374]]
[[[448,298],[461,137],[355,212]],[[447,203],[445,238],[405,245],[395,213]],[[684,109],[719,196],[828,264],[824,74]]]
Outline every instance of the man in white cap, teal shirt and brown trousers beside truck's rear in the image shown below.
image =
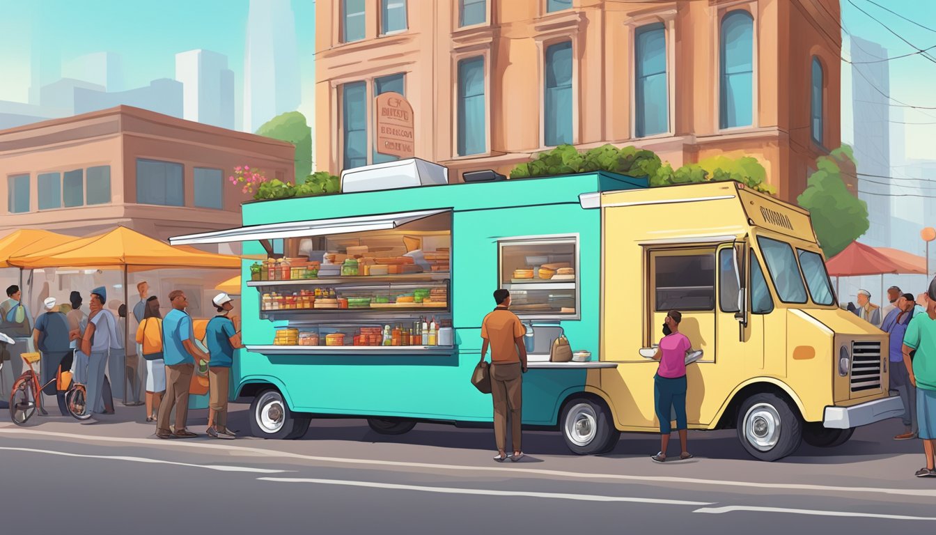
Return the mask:
[[205,329],[205,341],[208,345],[209,361],[209,412],[208,435],[213,438],[235,438],[234,431],[227,428],[227,391],[230,387],[231,364],[234,362],[234,349],[241,349],[241,334],[234,327],[234,321],[228,316],[234,309],[231,297],[221,292],[212,299],[218,315],[208,322]]

